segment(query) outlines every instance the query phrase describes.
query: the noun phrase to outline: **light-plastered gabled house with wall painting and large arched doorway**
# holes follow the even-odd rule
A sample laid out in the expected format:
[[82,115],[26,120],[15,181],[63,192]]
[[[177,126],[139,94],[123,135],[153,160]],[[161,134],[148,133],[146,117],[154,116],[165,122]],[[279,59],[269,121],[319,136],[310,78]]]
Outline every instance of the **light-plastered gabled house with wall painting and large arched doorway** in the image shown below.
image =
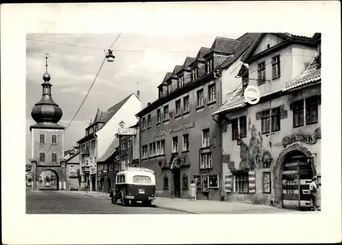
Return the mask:
[[[244,55],[240,84],[214,113],[225,200],[310,207],[308,185],[321,175],[320,57],[320,34],[258,34]],[[244,97],[248,85],[261,94],[255,105]]]

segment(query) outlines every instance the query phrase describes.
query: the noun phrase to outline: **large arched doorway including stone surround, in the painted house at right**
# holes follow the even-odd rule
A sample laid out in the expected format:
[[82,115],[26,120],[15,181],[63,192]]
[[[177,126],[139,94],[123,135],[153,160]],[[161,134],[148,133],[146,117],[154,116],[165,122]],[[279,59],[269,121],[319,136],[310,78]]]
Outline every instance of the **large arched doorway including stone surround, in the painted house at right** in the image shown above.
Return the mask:
[[316,175],[310,151],[294,144],[280,153],[274,166],[274,189],[277,207],[305,210],[311,208],[309,185]]

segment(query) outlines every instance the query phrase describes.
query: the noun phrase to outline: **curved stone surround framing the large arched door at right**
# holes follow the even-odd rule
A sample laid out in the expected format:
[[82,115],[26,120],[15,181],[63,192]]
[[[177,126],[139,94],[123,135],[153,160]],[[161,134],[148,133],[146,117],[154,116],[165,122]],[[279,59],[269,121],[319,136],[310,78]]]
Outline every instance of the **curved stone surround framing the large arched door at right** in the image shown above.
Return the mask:
[[[297,151],[298,153],[304,154],[306,157],[312,157],[312,154],[306,147],[301,146],[300,144],[293,144],[289,146],[287,149],[284,149],[278,159],[276,160],[276,164],[273,168],[273,176],[274,176],[274,206],[282,208],[282,170],[284,168],[285,159],[287,155]],[[313,170],[313,175],[316,175],[315,165],[312,163],[311,168]]]

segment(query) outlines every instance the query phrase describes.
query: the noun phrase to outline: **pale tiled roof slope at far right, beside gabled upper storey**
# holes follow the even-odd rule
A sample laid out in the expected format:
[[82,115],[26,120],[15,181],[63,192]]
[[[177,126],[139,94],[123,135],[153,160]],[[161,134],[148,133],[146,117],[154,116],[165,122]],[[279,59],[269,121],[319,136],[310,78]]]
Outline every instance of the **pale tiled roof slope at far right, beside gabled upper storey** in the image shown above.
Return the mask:
[[317,55],[308,64],[308,67],[303,71],[301,75],[286,83],[286,87],[282,91],[291,90],[307,83],[321,80],[321,66],[317,62]]

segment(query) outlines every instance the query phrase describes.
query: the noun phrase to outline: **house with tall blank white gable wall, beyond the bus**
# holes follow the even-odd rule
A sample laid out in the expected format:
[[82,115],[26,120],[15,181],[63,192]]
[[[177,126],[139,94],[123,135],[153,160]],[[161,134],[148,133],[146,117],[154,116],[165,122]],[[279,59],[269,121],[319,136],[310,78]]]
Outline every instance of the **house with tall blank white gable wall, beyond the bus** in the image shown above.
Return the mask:
[[80,147],[81,189],[88,186],[90,190],[96,191],[97,160],[111,147],[121,122],[126,125],[137,123],[135,114],[140,109],[141,101],[135,94],[130,94],[107,111],[98,109],[94,120],[86,128],[86,136],[77,142]]

